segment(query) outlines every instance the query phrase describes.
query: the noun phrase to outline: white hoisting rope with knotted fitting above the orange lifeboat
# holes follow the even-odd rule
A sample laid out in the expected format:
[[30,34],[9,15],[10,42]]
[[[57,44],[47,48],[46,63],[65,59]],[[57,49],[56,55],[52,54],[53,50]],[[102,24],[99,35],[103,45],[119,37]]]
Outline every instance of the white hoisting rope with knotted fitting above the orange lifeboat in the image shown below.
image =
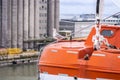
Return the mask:
[[106,46],[109,46],[107,39],[104,38],[104,36],[100,34],[100,30],[101,30],[100,22],[101,22],[101,16],[102,16],[102,9],[103,9],[103,0],[97,0],[96,2],[96,25],[95,25],[96,34],[92,38],[95,50],[99,50],[102,43],[104,43]]

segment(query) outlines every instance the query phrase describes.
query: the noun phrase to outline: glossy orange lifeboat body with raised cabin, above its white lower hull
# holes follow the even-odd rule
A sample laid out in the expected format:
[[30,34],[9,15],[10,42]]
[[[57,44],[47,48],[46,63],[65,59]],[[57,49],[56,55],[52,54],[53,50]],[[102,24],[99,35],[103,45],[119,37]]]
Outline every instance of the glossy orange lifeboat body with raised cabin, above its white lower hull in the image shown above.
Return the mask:
[[103,44],[100,50],[94,50],[94,34],[95,28],[86,40],[59,41],[44,47],[39,73],[120,80],[120,26],[101,26],[100,34],[107,38],[109,48]]

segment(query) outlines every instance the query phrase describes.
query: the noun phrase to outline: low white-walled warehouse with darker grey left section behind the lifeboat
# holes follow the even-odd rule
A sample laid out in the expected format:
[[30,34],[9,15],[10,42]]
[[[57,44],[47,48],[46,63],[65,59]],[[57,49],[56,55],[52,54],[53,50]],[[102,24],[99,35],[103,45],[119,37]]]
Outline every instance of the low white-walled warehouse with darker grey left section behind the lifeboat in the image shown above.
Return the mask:
[[73,37],[88,36],[94,22],[60,21],[60,30],[71,30]]

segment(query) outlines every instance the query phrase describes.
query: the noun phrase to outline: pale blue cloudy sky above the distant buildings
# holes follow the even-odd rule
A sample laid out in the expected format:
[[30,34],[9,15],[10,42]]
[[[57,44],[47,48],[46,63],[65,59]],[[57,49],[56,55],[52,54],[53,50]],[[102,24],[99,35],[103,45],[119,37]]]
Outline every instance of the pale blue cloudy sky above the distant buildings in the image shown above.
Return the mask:
[[[120,0],[104,0],[103,14],[120,11]],[[96,0],[60,0],[60,16],[64,14],[95,13]]]

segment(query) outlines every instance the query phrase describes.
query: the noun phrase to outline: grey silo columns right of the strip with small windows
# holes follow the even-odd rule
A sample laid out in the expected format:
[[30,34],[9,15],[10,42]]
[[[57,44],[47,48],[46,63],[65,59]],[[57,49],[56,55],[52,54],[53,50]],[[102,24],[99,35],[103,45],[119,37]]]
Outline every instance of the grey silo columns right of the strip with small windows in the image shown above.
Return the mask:
[[59,29],[59,0],[48,0],[48,36],[53,36],[53,28]]

